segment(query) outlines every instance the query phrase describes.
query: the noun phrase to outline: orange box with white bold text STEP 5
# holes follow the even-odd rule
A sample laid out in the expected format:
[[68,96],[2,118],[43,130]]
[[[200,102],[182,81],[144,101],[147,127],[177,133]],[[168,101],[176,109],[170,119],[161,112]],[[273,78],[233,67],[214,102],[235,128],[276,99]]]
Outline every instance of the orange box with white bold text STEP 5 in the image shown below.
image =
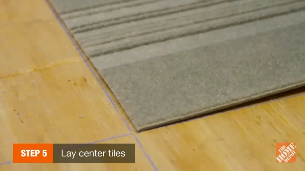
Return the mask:
[[14,163],[52,163],[53,144],[13,144]]

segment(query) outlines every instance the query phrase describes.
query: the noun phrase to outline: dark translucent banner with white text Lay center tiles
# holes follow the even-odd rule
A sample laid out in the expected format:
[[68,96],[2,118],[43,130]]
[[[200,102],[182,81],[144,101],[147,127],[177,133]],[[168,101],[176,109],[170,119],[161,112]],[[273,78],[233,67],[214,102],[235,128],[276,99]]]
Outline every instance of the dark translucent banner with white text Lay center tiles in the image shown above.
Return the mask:
[[54,144],[54,163],[135,163],[135,144]]

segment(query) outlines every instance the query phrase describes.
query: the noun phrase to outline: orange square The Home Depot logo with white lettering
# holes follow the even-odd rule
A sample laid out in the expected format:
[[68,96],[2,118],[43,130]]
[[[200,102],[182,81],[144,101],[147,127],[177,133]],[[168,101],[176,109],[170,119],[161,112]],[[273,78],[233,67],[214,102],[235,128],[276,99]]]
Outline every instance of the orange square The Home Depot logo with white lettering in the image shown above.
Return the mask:
[[276,143],[276,162],[296,162],[296,143]]

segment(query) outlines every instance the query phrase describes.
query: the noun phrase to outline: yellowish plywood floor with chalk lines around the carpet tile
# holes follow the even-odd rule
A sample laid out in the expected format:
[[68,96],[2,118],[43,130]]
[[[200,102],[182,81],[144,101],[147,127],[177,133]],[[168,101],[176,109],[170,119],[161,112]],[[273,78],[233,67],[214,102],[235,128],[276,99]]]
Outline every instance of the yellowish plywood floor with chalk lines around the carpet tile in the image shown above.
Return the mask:
[[[136,133],[88,65],[45,1],[0,1],[1,171],[305,168],[305,88],[271,102]],[[89,142],[135,143],[136,163],[12,163],[13,143]],[[275,162],[276,142],[296,143],[296,163]]]

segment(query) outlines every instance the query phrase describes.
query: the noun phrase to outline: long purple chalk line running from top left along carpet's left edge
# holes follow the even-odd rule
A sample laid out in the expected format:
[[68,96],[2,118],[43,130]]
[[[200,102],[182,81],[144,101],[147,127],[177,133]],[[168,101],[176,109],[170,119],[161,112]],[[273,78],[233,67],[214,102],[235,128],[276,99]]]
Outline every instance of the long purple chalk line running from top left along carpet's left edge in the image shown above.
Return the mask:
[[[94,73],[94,71],[92,70],[92,68],[90,67],[88,61],[86,60],[86,58],[83,56],[83,54],[81,53],[81,50],[77,47],[77,45],[74,42],[74,39],[70,36],[69,32],[66,30],[64,23],[62,23],[62,21],[59,19],[59,17],[56,15],[56,12],[54,11],[54,9],[50,6],[51,2],[49,2],[49,0],[45,0],[45,2],[48,4],[49,8],[51,9],[51,11],[53,12],[55,18],[57,19],[57,21],[59,22],[59,24],[61,25],[61,27],[63,28],[63,30],[65,31],[66,35],[70,38],[70,41],[72,42],[72,44],[74,45],[74,47],[76,48],[76,50],[78,51],[78,53],[80,54],[81,58],[83,58],[84,62],[86,63],[87,67],[89,68],[89,70],[91,71],[91,73],[94,75],[95,79],[99,82],[99,85],[102,87],[102,89],[104,90],[104,92],[106,93],[108,99],[110,100],[110,102],[112,103],[112,105],[114,106],[114,108],[117,110],[117,112],[120,114],[120,117],[122,118],[122,120],[124,121],[126,127],[128,128],[128,130],[130,132],[132,132],[131,127],[128,125],[127,120],[124,118],[124,116],[120,113],[120,110],[117,108],[116,104],[113,102],[113,100],[111,99],[111,97],[109,96],[108,92],[106,91],[105,87],[102,85],[102,82],[99,80],[99,77],[96,76],[96,74]],[[135,140],[138,142],[138,145],[141,147],[143,153],[145,154],[145,156],[147,157],[147,159],[149,160],[150,164],[152,165],[152,167],[155,169],[155,171],[158,171],[156,165],[154,164],[154,162],[152,162],[152,159],[150,158],[150,156],[146,153],[145,149],[143,148],[141,142],[138,140],[138,138],[134,135]]]

